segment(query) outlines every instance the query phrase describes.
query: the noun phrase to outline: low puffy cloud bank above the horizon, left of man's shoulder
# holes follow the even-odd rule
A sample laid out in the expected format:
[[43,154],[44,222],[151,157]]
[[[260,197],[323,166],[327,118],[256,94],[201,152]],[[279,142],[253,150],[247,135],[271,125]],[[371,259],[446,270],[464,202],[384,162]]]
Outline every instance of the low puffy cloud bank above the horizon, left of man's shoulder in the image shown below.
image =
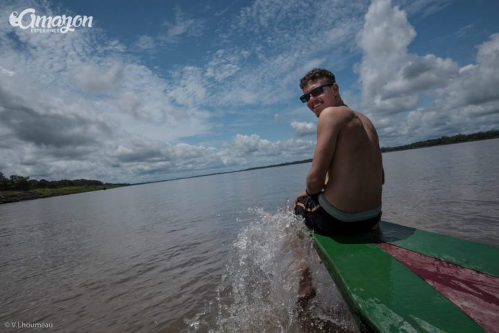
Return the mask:
[[288,162],[283,160],[286,158],[306,159],[312,156],[314,145],[314,142],[303,139],[270,142],[256,134],[238,134],[217,149],[190,144],[168,145],[131,135],[123,137],[121,143],[114,146],[110,162],[121,172],[146,181],[165,174],[192,176],[193,172],[206,173],[207,169],[262,167]]

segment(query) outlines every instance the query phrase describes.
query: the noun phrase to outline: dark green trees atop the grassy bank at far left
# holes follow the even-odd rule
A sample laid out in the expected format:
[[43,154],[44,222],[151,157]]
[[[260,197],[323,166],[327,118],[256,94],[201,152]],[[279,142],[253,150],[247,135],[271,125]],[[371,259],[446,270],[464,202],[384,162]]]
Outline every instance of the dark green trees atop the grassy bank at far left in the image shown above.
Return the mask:
[[128,185],[110,184],[100,180],[91,179],[62,179],[62,180],[36,180],[29,177],[12,175],[9,178],[0,172],[0,191],[29,191],[30,189],[59,189],[61,187],[91,187],[107,185]]

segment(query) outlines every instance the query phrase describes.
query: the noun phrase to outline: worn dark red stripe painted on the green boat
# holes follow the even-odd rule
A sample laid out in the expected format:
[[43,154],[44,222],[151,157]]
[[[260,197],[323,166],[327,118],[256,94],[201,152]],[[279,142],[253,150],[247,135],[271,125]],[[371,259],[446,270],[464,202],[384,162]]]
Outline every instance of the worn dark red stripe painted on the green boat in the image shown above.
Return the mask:
[[428,282],[487,332],[499,332],[499,278],[388,243],[383,250]]

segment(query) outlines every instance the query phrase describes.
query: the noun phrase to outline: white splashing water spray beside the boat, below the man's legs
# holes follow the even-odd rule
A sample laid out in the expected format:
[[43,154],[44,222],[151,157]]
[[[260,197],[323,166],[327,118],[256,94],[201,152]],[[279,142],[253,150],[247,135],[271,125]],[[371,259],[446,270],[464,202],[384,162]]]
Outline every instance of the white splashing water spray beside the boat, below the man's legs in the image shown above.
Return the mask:
[[[315,259],[303,221],[286,208],[269,214],[250,208],[249,223],[218,287],[221,332],[358,332],[347,305]],[[308,266],[317,296],[299,311],[301,269]]]

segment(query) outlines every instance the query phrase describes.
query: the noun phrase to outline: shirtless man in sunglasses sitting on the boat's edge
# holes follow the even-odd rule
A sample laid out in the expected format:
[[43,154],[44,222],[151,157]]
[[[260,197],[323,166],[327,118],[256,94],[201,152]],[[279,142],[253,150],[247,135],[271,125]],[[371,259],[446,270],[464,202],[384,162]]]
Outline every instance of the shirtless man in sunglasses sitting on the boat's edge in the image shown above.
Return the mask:
[[385,173],[376,129],[343,103],[331,71],[312,69],[300,87],[300,100],[319,121],[306,191],[295,200],[295,214],[326,234],[377,228]]

